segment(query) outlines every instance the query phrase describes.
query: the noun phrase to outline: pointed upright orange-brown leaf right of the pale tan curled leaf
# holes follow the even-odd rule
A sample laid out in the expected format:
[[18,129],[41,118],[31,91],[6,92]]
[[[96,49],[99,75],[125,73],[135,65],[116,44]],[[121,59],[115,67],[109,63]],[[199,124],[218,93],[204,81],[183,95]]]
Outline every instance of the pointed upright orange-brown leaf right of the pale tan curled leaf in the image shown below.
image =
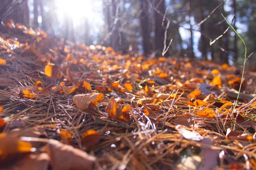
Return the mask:
[[108,113],[109,116],[127,121],[128,118],[122,113],[122,109],[119,108],[118,103],[115,101],[113,97],[111,97],[110,101],[108,102],[107,107],[105,108],[105,112]]

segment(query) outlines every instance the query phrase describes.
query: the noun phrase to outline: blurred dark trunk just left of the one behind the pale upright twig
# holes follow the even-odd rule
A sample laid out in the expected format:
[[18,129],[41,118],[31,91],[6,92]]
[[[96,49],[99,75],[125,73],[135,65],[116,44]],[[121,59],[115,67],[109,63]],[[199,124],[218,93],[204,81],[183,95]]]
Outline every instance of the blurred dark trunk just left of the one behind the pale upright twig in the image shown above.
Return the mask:
[[140,27],[143,37],[143,51],[144,55],[148,56],[150,54],[150,32],[149,32],[149,13],[148,13],[148,2],[145,0],[140,0]]

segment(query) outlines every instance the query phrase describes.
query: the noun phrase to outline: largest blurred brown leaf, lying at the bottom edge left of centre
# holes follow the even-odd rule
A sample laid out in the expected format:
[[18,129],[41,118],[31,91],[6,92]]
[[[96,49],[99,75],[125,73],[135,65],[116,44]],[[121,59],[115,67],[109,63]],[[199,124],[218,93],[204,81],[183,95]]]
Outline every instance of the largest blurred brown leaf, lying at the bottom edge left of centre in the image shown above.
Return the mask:
[[47,153],[52,170],[92,170],[94,156],[67,144],[49,139]]

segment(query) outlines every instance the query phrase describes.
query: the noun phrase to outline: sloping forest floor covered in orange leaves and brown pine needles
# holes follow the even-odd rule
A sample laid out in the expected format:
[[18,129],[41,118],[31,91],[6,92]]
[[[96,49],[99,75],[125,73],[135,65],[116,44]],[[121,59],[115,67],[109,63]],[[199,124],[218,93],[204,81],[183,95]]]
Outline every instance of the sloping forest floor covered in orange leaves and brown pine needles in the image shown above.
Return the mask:
[[0,26],[0,169],[256,169],[256,74]]

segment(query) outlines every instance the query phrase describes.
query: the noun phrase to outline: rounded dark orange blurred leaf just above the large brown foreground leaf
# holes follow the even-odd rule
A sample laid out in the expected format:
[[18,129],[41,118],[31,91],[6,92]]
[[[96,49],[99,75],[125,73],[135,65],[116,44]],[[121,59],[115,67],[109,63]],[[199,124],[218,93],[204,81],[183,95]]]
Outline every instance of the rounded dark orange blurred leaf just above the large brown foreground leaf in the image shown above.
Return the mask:
[[81,137],[81,143],[87,150],[92,149],[100,140],[100,135],[95,130],[88,130]]

